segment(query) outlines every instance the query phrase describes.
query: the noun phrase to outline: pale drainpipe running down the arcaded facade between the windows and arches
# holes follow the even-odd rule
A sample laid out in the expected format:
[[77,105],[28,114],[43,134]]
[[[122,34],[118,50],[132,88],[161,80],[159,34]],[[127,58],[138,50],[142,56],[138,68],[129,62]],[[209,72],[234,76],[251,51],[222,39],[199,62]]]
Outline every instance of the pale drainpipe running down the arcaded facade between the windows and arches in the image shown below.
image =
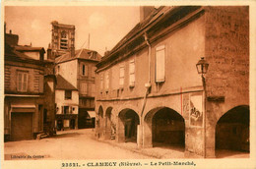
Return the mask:
[[[150,88],[151,88],[151,44],[150,44],[150,40],[148,38],[148,35],[147,35],[147,32],[145,32],[144,34],[144,37],[145,37],[145,41],[147,43],[147,45],[149,46],[149,51],[148,51],[148,57],[149,57],[149,79],[148,79],[148,83],[145,84],[145,87],[146,87],[146,92],[145,92],[145,95],[144,95],[144,99],[143,99],[143,105],[142,105],[142,112],[141,112],[141,118],[140,118],[140,125],[141,125],[141,143],[143,144],[143,136],[144,136],[144,132],[143,132],[143,123],[144,123],[144,120],[143,120],[143,113],[144,113],[144,109],[145,109],[145,106],[146,106],[146,102],[147,102],[147,96],[149,94],[149,91],[150,91]],[[140,146],[140,145],[139,145]]]

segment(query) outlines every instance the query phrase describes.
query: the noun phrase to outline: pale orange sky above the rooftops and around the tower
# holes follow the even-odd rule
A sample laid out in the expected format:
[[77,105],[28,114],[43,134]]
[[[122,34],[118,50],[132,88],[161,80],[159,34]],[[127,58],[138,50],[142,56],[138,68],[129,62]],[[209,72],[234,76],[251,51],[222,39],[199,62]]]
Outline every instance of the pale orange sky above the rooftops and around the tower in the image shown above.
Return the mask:
[[76,49],[88,48],[103,56],[129,30],[139,23],[140,10],[135,6],[6,6],[6,31],[19,35],[19,45],[44,47],[51,42],[51,22],[76,27]]

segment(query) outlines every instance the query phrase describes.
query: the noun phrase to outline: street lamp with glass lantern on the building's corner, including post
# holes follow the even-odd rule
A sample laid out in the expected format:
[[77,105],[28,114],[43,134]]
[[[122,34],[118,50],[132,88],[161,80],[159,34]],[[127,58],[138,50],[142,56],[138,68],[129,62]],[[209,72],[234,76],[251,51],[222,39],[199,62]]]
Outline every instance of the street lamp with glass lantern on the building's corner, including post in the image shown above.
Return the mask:
[[209,63],[205,60],[204,57],[201,57],[201,59],[196,64],[197,72],[202,77],[203,82],[203,95],[204,95],[204,157],[206,157],[206,81],[205,81],[205,75],[208,71]]

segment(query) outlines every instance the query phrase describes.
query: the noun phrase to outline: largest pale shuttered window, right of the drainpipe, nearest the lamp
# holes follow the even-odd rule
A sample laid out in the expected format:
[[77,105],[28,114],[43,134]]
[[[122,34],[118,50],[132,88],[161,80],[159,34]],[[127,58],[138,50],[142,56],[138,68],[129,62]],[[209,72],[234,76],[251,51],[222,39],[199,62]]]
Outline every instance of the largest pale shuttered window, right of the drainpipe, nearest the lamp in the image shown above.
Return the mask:
[[162,83],[165,79],[165,46],[156,48],[156,83]]

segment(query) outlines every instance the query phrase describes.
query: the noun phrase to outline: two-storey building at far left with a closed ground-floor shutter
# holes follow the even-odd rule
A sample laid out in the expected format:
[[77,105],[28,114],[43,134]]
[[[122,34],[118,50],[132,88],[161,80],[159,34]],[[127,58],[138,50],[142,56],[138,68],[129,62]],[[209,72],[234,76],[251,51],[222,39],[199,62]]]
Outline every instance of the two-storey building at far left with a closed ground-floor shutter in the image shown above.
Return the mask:
[[43,132],[43,58],[34,59],[17,51],[17,34],[5,36],[5,141],[31,140]]

